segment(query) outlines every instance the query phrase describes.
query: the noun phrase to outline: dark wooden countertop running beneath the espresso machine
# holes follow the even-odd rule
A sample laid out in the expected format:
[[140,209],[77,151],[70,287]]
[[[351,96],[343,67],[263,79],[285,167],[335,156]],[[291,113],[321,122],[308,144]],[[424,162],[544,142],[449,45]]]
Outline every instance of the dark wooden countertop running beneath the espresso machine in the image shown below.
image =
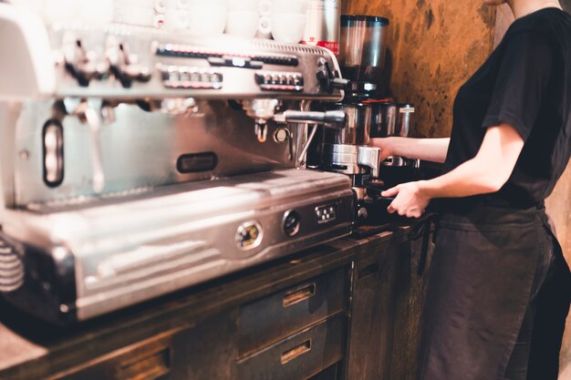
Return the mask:
[[129,344],[192,327],[209,315],[332,271],[404,241],[406,228],[338,239],[86,323],[45,324],[0,302],[0,379],[47,379]]

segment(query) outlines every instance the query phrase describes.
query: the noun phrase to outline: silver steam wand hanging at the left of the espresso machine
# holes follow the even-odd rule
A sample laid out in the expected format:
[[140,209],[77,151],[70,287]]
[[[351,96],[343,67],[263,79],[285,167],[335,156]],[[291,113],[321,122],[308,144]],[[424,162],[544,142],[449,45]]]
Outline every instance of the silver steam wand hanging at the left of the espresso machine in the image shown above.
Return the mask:
[[101,117],[99,113],[88,105],[87,101],[79,103],[75,112],[91,130],[91,164],[93,165],[93,190],[100,193],[105,188],[105,174],[103,173],[103,163],[101,161],[101,144],[99,142],[99,129],[101,128]]

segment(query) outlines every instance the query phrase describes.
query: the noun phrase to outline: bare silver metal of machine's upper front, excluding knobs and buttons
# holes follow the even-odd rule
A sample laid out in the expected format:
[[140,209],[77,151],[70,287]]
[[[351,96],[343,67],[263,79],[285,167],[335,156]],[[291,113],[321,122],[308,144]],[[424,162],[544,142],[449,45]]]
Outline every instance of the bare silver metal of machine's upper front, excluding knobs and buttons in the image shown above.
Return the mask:
[[[98,98],[207,98],[207,99],[246,99],[246,98],[282,98],[322,100],[340,100],[341,90],[331,94],[321,88],[317,80],[317,61],[320,57],[327,60],[329,67],[339,70],[333,54],[321,47],[297,44],[282,44],[271,40],[244,39],[234,36],[217,38],[197,38],[180,32],[164,31],[155,28],[125,25],[108,26],[62,26],[49,29],[51,46],[60,57],[56,67],[57,90],[50,94],[57,98],[98,97]],[[116,77],[102,77],[89,81],[88,87],[79,87],[78,81],[69,75],[63,65],[66,45],[71,41],[81,41],[81,45],[92,56],[94,64],[106,62],[109,56],[109,41],[125,46],[130,55],[137,56],[138,65],[149,69],[151,79],[148,82],[134,80],[130,87],[123,87]],[[67,42],[65,42],[67,41]],[[157,48],[170,46],[179,49],[178,56],[157,55]],[[184,52],[197,52],[201,56],[183,56]],[[217,67],[203,56],[229,56],[260,60],[264,56],[293,56],[298,59],[296,66],[278,65],[267,61],[262,67],[244,69],[236,67]],[[199,87],[167,88],[161,77],[161,67],[188,67],[218,73],[223,77],[220,89]],[[303,91],[262,90],[255,81],[258,71],[276,73],[302,73]]]

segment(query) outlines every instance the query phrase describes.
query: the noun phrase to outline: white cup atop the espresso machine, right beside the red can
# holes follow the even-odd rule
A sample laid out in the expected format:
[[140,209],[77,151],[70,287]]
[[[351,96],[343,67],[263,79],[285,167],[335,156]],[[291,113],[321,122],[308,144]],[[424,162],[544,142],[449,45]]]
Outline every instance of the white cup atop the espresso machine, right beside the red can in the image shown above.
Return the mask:
[[272,36],[278,42],[299,43],[306,32],[307,0],[272,0]]

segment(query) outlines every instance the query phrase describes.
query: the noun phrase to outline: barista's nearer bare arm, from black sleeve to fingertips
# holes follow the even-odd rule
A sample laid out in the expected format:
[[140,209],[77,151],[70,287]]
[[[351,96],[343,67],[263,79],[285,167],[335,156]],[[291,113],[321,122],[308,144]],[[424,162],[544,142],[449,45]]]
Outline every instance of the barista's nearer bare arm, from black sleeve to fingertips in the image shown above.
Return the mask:
[[441,177],[401,184],[384,191],[396,199],[389,212],[419,218],[434,198],[461,198],[496,192],[514,171],[524,139],[510,124],[488,128],[478,154]]

